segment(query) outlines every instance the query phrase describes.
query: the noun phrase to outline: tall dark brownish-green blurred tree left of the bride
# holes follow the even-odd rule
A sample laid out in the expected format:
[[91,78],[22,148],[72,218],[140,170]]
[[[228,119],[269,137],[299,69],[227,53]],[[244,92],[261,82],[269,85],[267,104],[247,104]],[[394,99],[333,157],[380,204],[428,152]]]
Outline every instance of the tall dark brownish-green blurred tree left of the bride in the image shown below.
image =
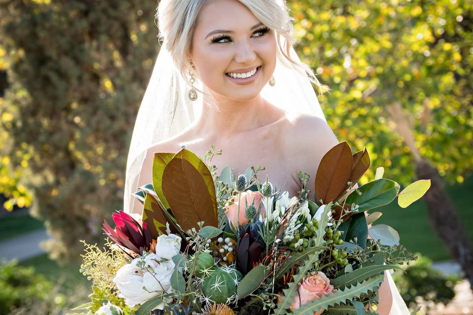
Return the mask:
[[156,7],[0,0],[9,83],[0,103],[9,145],[1,154],[10,171],[25,167],[33,215],[54,236],[53,257],[77,258],[79,240],[101,240],[103,218],[122,207],[136,112],[159,50]]

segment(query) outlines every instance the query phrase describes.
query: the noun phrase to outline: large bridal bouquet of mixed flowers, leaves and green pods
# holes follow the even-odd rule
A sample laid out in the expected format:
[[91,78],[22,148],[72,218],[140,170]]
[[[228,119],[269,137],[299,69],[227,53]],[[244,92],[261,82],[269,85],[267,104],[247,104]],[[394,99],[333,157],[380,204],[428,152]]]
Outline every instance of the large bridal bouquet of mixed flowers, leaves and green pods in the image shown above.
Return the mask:
[[[86,246],[81,272],[93,283],[83,315],[376,314],[384,271],[416,259],[390,226],[371,226],[371,212],[398,197],[401,207],[430,187],[382,178],[356,184],[370,166],[366,149],[346,142],[321,160],[315,191],[299,172],[289,198],[264,168],[217,175],[212,147],[203,158],[187,149],[156,153],[153,183],[135,192],[142,216],[104,221],[106,248]],[[371,214],[368,215],[368,211]],[[371,227],[370,227],[371,226]]]

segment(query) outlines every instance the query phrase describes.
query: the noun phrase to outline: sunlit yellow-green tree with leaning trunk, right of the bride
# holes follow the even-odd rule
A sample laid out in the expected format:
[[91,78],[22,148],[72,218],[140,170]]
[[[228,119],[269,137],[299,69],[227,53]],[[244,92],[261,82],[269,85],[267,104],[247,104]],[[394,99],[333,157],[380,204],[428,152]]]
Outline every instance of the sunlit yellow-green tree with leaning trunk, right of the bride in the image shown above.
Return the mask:
[[[402,184],[431,178],[434,228],[473,283],[473,251],[443,179],[473,169],[473,11],[466,0],[292,1],[304,62],[339,138]],[[373,174],[368,173],[368,176]],[[440,177],[441,176],[441,177]],[[362,178],[362,182],[366,178]]]

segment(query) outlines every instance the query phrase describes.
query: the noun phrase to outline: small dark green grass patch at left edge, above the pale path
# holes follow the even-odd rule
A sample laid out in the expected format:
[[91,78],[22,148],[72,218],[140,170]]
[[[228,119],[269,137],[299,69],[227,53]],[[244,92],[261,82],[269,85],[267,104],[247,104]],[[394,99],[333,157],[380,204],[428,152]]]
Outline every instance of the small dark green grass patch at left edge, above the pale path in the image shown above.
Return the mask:
[[0,219],[0,241],[41,228],[44,228],[43,222],[34,219],[28,213],[6,215]]

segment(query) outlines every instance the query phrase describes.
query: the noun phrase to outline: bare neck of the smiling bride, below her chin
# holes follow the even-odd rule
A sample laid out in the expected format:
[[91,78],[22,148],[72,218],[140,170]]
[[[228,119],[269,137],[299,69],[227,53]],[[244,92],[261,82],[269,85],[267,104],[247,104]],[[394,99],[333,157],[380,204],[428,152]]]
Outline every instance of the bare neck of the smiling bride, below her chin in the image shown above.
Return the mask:
[[270,104],[261,95],[253,99],[238,101],[214,97],[210,91],[203,97],[203,109],[196,126],[205,136],[219,138],[232,136],[265,126],[270,119]]

